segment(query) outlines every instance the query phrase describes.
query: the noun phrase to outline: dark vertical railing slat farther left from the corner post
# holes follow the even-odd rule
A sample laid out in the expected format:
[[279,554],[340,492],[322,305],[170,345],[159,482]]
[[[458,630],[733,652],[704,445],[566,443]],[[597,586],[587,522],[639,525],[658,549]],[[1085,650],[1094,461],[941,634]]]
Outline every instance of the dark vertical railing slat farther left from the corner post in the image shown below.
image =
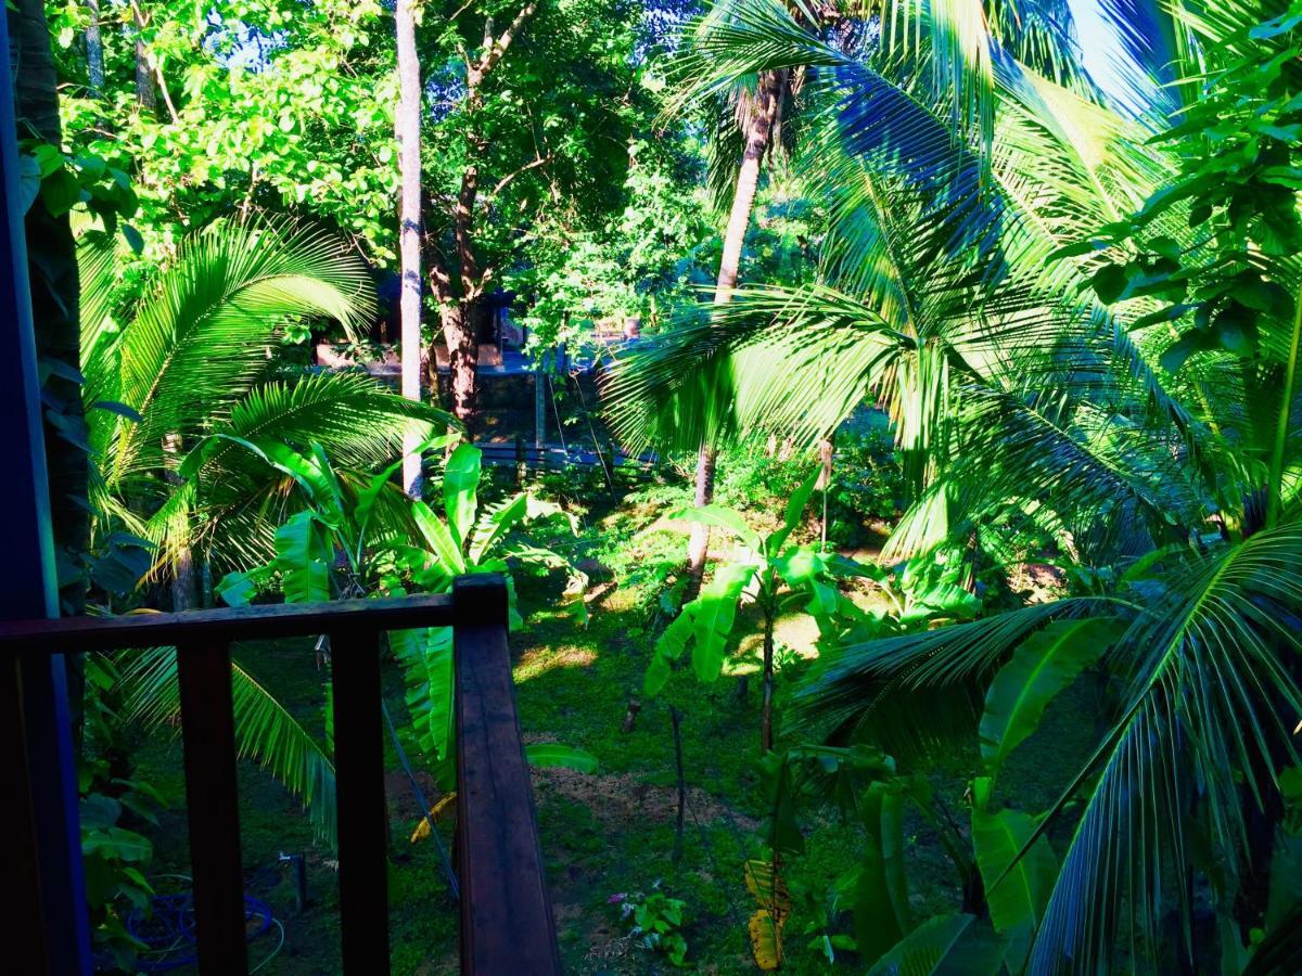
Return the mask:
[[249,968],[230,651],[197,635],[177,647],[185,804],[201,973]]

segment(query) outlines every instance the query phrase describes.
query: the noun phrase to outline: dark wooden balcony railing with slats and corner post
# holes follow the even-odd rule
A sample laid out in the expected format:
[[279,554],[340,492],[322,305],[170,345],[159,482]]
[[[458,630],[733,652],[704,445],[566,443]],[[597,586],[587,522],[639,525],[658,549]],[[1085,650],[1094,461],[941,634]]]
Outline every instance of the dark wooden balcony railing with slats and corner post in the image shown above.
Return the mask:
[[[461,969],[557,973],[500,576],[461,578],[450,596],[0,623],[0,653],[9,675],[48,655],[177,648],[199,969],[238,973],[247,969],[247,954],[229,648],[238,640],[328,634],[342,963],[350,973],[383,973],[389,940],[380,634],[414,627],[453,629]],[[22,761],[21,750],[3,755],[7,765]],[[23,790],[29,772],[0,770],[7,791]],[[39,830],[39,800],[20,793],[12,802],[23,799],[34,813],[31,829]],[[34,837],[10,839],[20,851],[36,850]],[[39,871],[38,882],[68,881]]]

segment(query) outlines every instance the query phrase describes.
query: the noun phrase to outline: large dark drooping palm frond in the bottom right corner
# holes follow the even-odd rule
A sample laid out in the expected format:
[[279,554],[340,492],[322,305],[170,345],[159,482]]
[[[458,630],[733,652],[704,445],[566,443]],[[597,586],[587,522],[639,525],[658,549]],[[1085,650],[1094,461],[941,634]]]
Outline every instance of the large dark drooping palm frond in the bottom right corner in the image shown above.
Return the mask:
[[1051,811],[1087,791],[1031,971],[1105,968],[1126,914],[1131,945],[1157,943],[1163,880],[1184,877],[1191,856],[1182,825],[1195,796],[1217,838],[1212,856],[1238,874],[1246,829],[1236,778],[1260,803],[1279,790],[1275,757],[1298,761],[1302,691],[1281,652],[1298,649],[1289,621],[1302,604],[1299,558],[1293,522],[1180,566],[1109,652],[1126,682],[1122,709]]

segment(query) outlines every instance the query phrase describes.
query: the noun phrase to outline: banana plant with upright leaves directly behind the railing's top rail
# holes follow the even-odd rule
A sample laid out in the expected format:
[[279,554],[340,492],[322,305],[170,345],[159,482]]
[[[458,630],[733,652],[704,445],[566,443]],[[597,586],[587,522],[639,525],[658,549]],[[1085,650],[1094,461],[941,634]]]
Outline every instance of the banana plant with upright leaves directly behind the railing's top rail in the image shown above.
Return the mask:
[[[444,435],[421,450],[448,446]],[[319,445],[303,454],[275,441],[215,435],[210,444],[236,442],[290,479],[306,508],[276,530],[276,556],[251,570],[228,574],[217,587],[232,605],[279,588],[288,603],[320,603],[365,595],[444,593],[460,575],[503,573],[509,593],[509,623],[521,626],[510,562],[543,571],[564,570],[566,595],[579,614],[587,578],[556,552],[512,539],[522,524],[564,517],[564,511],[527,493],[482,506],[482,452],[458,445],[443,472],[440,518],[423,500],[409,500],[393,480],[401,459],[374,475],[336,470]],[[202,458],[201,446],[197,457]],[[199,463],[197,461],[197,463]],[[570,522],[570,530],[575,531]],[[426,627],[395,631],[389,647],[402,668],[411,734],[419,752],[450,774],[452,631]]]

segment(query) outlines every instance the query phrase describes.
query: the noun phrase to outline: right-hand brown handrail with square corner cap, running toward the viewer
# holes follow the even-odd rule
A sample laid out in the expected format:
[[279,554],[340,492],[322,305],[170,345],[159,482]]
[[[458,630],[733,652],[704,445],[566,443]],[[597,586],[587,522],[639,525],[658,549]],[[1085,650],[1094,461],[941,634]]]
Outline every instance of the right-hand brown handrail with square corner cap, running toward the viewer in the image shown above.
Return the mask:
[[560,973],[556,924],[516,713],[501,576],[456,582],[461,972]]

